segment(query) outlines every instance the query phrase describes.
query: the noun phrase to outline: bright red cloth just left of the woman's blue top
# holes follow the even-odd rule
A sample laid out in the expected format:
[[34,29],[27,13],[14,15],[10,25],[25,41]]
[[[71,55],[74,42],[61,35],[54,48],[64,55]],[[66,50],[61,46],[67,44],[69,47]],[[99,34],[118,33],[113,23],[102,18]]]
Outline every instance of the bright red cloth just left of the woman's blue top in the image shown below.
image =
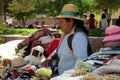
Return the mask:
[[55,38],[50,43],[50,46],[45,51],[45,53],[46,53],[47,56],[49,56],[58,47],[59,41],[60,41],[60,38]]

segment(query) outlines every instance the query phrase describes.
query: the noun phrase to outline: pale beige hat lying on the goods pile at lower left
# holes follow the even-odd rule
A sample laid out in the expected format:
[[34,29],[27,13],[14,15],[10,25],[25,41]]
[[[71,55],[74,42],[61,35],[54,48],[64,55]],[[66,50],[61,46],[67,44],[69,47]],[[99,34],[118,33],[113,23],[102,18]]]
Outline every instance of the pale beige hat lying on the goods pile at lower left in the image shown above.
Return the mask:
[[12,60],[12,68],[23,68],[27,66],[26,61],[22,57],[18,57]]

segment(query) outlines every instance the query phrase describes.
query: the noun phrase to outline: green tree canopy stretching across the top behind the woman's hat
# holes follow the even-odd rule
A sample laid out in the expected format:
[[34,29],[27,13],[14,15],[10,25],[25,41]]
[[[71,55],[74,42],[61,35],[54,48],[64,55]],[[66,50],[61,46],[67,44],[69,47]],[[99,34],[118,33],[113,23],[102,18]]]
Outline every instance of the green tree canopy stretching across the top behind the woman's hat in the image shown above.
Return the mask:
[[[56,16],[61,11],[64,4],[75,4],[80,16],[85,12],[101,13],[103,8],[108,8],[112,13],[120,7],[119,0],[4,0],[9,3],[6,11],[14,16],[23,26],[27,19],[36,14]],[[7,6],[6,6],[7,7]]]

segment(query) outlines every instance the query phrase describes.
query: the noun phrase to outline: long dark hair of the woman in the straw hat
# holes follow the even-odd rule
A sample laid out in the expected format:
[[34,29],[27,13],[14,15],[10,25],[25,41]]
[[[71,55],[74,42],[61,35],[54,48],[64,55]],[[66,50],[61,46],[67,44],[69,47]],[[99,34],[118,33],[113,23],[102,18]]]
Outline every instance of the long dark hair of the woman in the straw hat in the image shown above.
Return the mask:
[[[71,21],[70,18],[65,18],[65,20],[67,22]],[[76,25],[76,29],[81,29],[87,36],[89,35],[89,31],[84,26],[84,22],[82,20],[73,19],[73,21],[74,21],[74,23]]]

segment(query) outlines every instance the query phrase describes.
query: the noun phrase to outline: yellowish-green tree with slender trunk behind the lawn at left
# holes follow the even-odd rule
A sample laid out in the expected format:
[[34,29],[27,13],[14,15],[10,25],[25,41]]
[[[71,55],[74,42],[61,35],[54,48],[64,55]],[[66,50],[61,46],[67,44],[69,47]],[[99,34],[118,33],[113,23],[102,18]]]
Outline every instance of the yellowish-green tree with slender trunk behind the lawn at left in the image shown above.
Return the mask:
[[34,16],[34,3],[36,0],[12,0],[8,5],[10,16],[14,16],[23,27],[27,19]]

